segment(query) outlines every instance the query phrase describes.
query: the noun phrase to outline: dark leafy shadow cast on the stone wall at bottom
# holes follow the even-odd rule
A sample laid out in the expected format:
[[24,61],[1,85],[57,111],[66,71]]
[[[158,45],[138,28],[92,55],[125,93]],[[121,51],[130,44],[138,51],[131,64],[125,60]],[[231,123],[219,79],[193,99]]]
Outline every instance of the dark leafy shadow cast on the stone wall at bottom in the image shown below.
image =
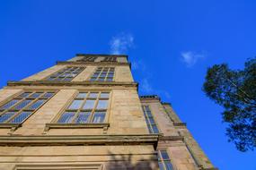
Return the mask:
[[158,170],[157,156],[147,159],[133,161],[132,154],[112,154],[109,152],[111,160],[105,166],[106,170]]

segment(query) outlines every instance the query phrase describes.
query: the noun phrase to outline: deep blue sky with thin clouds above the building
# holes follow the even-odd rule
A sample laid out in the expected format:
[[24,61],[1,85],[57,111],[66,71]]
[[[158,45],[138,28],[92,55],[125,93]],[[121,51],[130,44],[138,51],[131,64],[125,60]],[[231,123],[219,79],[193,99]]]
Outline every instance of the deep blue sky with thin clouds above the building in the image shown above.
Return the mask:
[[77,53],[128,54],[139,93],[171,102],[213,164],[256,170],[227,142],[207,67],[256,55],[256,1],[1,1],[0,87]]

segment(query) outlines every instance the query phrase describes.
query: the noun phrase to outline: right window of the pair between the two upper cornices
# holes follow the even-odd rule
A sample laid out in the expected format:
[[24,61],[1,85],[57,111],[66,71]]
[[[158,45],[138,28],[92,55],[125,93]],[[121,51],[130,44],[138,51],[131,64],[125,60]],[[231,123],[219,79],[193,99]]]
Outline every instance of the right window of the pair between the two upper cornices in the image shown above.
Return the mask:
[[113,81],[114,67],[98,67],[90,81]]

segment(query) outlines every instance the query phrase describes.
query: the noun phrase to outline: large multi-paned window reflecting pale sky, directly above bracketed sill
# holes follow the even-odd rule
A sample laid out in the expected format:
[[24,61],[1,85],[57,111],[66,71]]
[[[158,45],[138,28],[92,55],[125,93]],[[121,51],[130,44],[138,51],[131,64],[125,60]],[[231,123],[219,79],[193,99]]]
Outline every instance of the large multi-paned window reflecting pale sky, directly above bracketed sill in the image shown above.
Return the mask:
[[57,123],[104,123],[109,92],[79,92]]

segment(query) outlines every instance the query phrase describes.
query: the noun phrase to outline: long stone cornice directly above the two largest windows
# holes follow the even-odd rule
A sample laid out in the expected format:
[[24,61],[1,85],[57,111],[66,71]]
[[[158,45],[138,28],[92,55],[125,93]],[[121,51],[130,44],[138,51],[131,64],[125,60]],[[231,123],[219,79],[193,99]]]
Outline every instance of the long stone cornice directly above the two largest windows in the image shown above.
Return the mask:
[[7,86],[99,86],[99,87],[135,87],[137,82],[117,81],[8,81]]

